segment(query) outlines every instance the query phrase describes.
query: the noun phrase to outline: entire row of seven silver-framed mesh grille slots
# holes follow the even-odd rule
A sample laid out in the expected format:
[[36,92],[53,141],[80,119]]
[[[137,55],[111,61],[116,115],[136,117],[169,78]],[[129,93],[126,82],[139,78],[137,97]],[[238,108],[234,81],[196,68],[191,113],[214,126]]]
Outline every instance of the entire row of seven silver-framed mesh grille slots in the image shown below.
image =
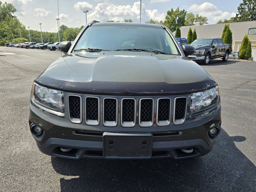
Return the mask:
[[[119,108],[122,127],[134,127],[137,118],[140,127],[151,127],[154,121],[157,126],[169,126],[171,123],[171,98],[158,98],[156,106],[153,98],[140,98],[138,102],[135,98],[122,98],[120,100],[121,102],[112,97],[100,99],[96,96],[87,96],[84,103],[86,125],[98,126],[100,124],[100,111],[102,111],[103,125],[106,127],[117,126]],[[101,102],[102,109],[100,109]],[[174,98],[173,124],[179,125],[185,121],[186,106],[186,97]],[[154,120],[154,107],[156,107],[156,120]],[[68,108],[70,121],[74,124],[82,123],[82,97],[69,95]],[[138,115],[136,113],[137,108]]]

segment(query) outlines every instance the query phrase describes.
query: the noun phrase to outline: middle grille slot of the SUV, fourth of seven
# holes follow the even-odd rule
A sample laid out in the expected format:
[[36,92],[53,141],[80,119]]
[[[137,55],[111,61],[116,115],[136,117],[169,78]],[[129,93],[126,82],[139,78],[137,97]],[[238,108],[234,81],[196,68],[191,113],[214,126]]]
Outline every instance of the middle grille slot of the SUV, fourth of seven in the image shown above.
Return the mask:
[[136,100],[123,98],[121,103],[121,125],[123,127],[135,126]]

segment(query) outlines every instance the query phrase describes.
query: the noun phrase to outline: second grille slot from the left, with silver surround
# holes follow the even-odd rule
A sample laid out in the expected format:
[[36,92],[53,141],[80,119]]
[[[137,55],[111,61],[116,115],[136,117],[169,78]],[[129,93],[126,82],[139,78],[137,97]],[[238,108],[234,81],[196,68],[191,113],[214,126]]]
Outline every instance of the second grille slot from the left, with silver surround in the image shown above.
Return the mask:
[[88,96],[85,98],[85,123],[97,126],[100,124],[100,99]]

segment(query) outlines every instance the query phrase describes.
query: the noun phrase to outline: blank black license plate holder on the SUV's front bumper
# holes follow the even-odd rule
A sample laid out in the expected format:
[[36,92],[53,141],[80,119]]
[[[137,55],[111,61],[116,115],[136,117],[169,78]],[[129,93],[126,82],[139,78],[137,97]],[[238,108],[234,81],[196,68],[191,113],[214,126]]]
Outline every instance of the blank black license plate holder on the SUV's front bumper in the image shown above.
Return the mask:
[[105,158],[151,158],[151,133],[103,134],[103,156]]

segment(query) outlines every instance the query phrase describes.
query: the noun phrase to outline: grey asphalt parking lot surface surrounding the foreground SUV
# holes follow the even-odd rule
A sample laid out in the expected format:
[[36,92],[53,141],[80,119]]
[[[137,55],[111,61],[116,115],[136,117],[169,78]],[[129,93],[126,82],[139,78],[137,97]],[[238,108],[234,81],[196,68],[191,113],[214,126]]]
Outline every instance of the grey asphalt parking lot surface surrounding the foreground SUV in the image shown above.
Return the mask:
[[42,154],[28,126],[32,82],[59,56],[0,47],[0,191],[256,191],[256,62],[202,66],[222,101],[222,131],[206,156],[69,160]]

